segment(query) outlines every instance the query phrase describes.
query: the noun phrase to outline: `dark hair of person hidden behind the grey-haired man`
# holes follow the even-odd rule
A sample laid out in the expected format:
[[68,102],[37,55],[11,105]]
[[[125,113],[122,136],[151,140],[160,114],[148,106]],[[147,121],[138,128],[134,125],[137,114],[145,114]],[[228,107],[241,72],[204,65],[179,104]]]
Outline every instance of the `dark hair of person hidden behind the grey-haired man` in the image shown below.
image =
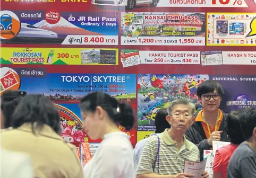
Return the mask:
[[161,132],[164,132],[165,129],[170,128],[170,124],[166,120],[167,115],[168,115],[168,111],[166,108],[162,108],[157,112],[155,117],[155,126],[156,126],[155,133],[161,133]]

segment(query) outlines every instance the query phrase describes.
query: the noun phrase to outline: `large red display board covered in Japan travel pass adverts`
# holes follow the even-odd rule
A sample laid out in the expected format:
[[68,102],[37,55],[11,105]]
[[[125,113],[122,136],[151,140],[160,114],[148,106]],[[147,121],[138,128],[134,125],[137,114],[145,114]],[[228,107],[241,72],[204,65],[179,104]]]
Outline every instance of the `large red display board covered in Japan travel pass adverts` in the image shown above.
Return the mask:
[[78,109],[93,91],[133,106],[134,128],[119,127],[133,146],[169,102],[200,109],[195,90],[207,79],[223,85],[225,112],[255,107],[255,8],[251,0],[4,0],[1,93],[47,95],[75,145],[101,141],[87,137]]

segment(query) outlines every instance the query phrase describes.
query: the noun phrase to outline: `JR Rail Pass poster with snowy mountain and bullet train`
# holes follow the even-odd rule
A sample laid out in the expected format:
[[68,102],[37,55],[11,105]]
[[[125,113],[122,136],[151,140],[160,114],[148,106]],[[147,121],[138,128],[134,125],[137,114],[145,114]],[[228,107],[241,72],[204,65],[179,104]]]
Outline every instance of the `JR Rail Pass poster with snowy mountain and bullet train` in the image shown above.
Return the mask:
[[115,13],[47,10],[1,11],[1,15],[1,24],[5,21],[5,30],[1,29],[1,42],[4,43],[118,44]]

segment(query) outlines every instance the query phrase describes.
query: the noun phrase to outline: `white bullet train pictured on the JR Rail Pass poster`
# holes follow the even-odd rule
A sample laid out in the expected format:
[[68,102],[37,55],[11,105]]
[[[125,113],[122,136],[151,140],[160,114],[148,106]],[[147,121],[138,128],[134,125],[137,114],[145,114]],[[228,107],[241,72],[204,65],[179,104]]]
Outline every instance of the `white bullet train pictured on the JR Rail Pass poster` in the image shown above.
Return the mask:
[[58,38],[57,33],[39,29],[28,23],[21,23],[21,29],[16,37],[20,38]]

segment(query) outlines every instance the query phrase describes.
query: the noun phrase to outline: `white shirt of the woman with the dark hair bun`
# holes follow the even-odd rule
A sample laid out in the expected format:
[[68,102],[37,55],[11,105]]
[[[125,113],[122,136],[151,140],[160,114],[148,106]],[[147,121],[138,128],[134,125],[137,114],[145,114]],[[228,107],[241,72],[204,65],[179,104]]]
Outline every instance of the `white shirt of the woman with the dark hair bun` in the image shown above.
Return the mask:
[[104,136],[91,161],[84,167],[84,178],[135,178],[136,167],[129,136],[112,132]]

